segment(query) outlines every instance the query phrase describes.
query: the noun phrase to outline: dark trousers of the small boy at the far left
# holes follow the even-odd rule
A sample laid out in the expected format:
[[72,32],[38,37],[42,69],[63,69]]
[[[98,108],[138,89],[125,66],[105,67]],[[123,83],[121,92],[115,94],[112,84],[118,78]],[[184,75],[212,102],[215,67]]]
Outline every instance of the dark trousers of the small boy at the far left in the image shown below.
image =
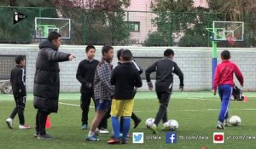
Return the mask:
[[15,109],[13,110],[13,112],[11,112],[9,117],[14,119],[16,114],[18,113],[20,125],[23,125],[25,123],[24,109],[26,106],[26,96],[23,96],[23,97],[15,96],[15,103],[16,103]]

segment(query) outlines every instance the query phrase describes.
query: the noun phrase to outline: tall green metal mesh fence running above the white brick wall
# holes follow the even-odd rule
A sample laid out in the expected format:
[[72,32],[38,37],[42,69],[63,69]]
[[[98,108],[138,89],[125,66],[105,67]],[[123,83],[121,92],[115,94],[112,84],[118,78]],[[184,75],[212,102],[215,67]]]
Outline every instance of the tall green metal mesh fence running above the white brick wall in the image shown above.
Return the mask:
[[[213,20],[229,20],[226,14],[92,11],[85,9],[0,7],[0,43],[38,43],[35,17],[70,18],[71,39],[65,44],[211,47],[206,28]],[[15,12],[26,19],[14,25]],[[256,46],[256,14],[244,14],[245,41],[236,47]],[[219,42],[219,47],[229,47]]]

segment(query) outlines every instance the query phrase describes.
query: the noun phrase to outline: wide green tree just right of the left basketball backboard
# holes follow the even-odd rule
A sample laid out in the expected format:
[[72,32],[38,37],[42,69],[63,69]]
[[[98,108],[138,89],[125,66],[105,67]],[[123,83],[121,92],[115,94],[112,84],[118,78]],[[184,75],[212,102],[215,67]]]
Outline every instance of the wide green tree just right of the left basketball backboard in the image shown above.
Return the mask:
[[72,18],[73,39],[77,43],[123,44],[130,37],[125,26],[125,11],[130,0],[87,0],[73,9],[62,9]]

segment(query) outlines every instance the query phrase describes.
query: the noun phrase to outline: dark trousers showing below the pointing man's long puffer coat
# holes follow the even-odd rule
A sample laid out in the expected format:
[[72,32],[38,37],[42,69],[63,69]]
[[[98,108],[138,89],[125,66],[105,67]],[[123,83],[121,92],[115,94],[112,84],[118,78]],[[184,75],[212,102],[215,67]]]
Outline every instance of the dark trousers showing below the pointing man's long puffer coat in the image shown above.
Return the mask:
[[38,110],[37,116],[36,116],[36,132],[38,135],[45,135],[45,123],[47,116],[49,115],[49,112],[43,112],[41,110]]

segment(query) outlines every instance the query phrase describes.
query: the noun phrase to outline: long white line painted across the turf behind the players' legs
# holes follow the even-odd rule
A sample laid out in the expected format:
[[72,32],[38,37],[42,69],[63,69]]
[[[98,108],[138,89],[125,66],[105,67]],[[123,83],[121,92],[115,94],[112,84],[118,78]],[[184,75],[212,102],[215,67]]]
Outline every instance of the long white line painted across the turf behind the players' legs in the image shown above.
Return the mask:
[[[69,104],[64,102],[59,102],[61,105],[67,106],[80,106],[78,104]],[[90,108],[94,108],[94,106],[90,106]],[[230,109],[231,111],[256,111],[256,109]],[[179,112],[205,112],[205,111],[219,111],[219,109],[183,109],[183,110],[171,110],[171,111],[179,111]],[[134,110],[134,112],[157,112],[157,110]]]

